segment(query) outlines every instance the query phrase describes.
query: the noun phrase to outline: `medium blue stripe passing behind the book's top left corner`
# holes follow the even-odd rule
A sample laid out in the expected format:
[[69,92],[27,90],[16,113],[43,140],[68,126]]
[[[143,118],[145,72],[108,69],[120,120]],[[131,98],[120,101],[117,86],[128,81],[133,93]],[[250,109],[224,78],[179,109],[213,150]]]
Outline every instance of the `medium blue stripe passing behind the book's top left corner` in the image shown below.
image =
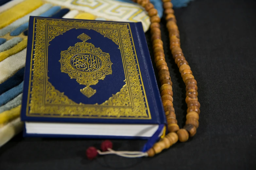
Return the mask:
[[[48,9],[46,12],[44,12],[43,14],[39,15],[40,17],[49,17],[53,14],[55,14],[58,10],[60,10],[60,6],[55,6],[55,7],[51,7],[50,9]],[[22,24],[21,26],[19,26],[18,28],[16,28],[14,31],[12,31],[10,33],[11,36],[17,36],[20,35],[22,32],[24,32],[26,29],[28,28],[28,22]],[[27,30],[25,31],[27,32]],[[24,35],[27,35],[25,34]]]

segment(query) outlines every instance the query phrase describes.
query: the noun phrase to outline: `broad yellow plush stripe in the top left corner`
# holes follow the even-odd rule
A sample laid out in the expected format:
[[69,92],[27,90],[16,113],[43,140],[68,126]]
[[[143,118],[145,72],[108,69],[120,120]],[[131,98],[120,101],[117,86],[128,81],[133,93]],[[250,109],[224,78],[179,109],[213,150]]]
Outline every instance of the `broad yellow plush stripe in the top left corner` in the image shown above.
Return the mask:
[[43,5],[43,1],[41,0],[26,0],[0,13],[0,29],[32,12],[41,5]]

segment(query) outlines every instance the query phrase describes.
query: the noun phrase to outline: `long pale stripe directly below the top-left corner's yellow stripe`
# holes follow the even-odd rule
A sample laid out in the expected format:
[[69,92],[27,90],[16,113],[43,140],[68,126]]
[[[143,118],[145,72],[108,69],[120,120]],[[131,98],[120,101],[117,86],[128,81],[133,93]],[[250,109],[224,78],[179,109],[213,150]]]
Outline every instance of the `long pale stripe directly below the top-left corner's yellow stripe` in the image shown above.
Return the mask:
[[51,4],[44,4],[41,7],[32,11],[31,13],[25,15],[24,17],[12,22],[10,25],[8,25],[0,30],[0,36],[4,36],[7,33],[18,28],[20,25],[28,22],[29,16],[38,16],[38,15],[42,14],[43,12],[45,12],[46,10],[48,10],[50,7],[52,7]]

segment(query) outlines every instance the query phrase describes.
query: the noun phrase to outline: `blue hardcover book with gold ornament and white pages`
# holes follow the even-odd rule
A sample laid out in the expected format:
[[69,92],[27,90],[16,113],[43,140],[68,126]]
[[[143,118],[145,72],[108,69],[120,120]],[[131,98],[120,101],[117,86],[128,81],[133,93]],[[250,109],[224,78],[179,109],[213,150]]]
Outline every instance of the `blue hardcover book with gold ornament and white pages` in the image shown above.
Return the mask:
[[25,136],[161,135],[142,23],[30,16],[21,120]]

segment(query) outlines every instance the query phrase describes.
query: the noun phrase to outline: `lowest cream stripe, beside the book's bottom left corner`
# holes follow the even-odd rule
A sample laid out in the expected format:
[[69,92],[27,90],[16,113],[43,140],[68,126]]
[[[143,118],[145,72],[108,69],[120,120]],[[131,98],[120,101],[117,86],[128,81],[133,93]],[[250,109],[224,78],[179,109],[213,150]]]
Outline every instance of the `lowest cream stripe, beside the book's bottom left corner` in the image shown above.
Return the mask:
[[23,122],[21,118],[17,118],[7,125],[0,128],[0,148],[8,142],[13,136],[22,131]]

